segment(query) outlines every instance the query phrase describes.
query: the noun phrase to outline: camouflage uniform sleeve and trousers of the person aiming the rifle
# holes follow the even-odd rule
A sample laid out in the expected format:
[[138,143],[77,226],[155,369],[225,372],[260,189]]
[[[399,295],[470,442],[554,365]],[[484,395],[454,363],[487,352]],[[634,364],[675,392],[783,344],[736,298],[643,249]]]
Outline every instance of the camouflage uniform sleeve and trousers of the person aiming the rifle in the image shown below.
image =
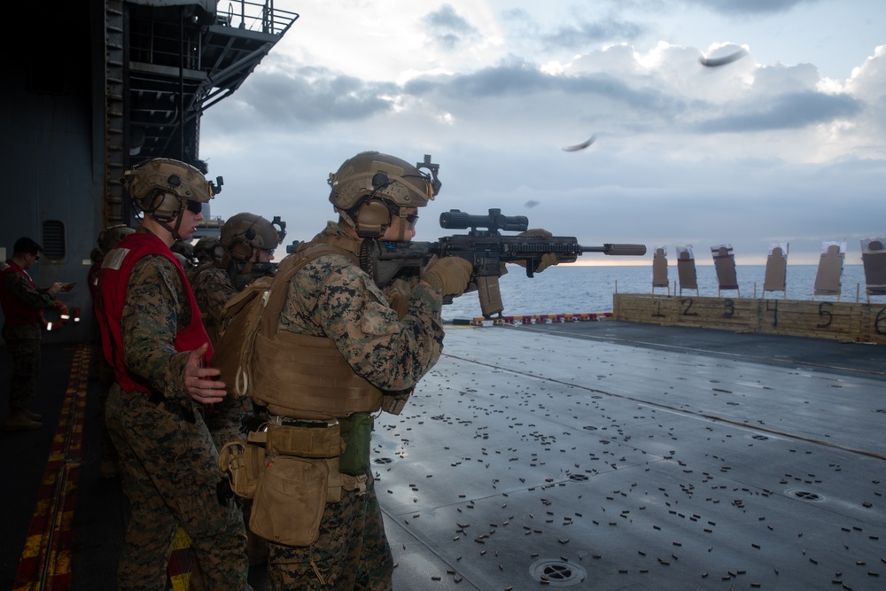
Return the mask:
[[[320,237],[357,242],[335,222],[329,222]],[[309,261],[291,278],[280,326],[331,338],[361,377],[382,390],[400,392],[416,385],[439,359],[443,346],[440,307],[438,292],[417,285],[400,320],[383,292],[354,261],[326,254]],[[270,544],[270,588],[391,588],[391,549],[367,471],[364,494],[343,491],[341,502],[326,505],[320,538],[312,546]]]

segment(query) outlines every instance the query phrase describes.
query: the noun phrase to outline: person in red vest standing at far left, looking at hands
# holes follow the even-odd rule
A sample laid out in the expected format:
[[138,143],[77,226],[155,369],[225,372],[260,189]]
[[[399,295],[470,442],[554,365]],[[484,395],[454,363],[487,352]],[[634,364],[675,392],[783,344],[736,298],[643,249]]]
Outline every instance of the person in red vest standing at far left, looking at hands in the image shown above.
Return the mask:
[[0,305],[3,307],[3,338],[12,354],[7,431],[39,429],[43,418],[28,409],[40,374],[40,336],[44,309],[55,306],[55,297],[65,284],[37,289],[27,269],[40,261],[43,246],[21,237],[12,247],[12,258],[0,263]]

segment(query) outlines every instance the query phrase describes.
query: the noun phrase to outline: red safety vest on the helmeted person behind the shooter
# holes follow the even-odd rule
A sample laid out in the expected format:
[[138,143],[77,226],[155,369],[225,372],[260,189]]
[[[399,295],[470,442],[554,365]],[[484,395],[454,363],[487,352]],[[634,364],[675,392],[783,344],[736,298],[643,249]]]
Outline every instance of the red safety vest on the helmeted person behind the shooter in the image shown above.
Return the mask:
[[[169,247],[152,234],[138,232],[124,237],[105,255],[104,264],[98,272],[98,291],[95,303],[96,318],[102,331],[102,349],[105,360],[111,364],[114,377],[124,392],[150,393],[152,386],[148,385],[143,377],[136,376],[126,367],[123,362],[123,336],[120,330],[120,319],[123,315],[123,305],[126,303],[126,290],[129,283],[129,275],[136,262],[150,254],[165,256],[175,263],[178,268],[179,279],[182,282],[184,292],[190,303],[190,324],[175,335],[175,351],[193,351],[204,343],[210,343],[203,321],[200,318],[200,308],[194,299],[194,292],[190,290],[190,284],[184,276],[182,264],[175,258]],[[204,367],[209,366],[213,356],[212,343],[203,357]]]

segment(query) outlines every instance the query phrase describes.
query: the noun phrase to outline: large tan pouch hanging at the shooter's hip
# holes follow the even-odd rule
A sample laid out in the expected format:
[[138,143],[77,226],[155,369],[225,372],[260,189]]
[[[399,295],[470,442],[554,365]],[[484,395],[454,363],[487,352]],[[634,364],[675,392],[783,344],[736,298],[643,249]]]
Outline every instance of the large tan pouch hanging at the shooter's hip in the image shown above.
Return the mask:
[[329,465],[291,455],[268,458],[253,498],[249,529],[284,546],[310,546],[320,537]]

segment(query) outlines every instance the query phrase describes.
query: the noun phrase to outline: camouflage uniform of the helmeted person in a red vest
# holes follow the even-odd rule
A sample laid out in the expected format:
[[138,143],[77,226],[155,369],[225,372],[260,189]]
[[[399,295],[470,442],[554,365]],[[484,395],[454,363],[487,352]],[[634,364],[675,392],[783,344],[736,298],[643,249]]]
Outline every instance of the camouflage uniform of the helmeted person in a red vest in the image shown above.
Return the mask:
[[232,500],[219,499],[218,452],[183,384],[189,354],[173,346],[191,320],[185,289],[179,269],[165,256],[145,256],[128,279],[120,317],[124,361],[156,393],[127,393],[115,383],[107,400],[108,429],[131,510],[118,583],[120,589],[164,589],[181,525],[206,588],[240,591],[250,588],[243,520]]

